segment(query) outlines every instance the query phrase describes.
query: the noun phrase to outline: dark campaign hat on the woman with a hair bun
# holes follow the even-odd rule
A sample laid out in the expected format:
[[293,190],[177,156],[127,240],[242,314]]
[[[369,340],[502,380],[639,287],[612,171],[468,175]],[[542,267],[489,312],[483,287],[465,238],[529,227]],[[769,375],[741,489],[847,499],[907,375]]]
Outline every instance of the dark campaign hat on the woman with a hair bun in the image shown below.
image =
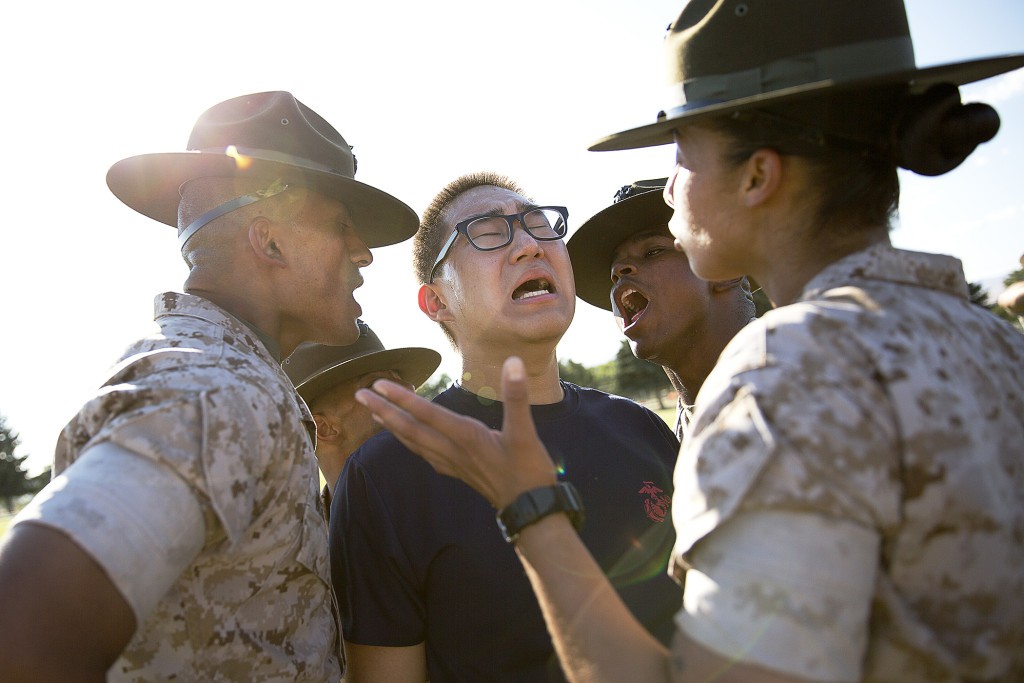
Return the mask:
[[924,92],[1024,67],[1011,54],[918,69],[902,0],[690,0],[666,49],[672,101],[592,151],[666,144],[703,117],[874,86]]

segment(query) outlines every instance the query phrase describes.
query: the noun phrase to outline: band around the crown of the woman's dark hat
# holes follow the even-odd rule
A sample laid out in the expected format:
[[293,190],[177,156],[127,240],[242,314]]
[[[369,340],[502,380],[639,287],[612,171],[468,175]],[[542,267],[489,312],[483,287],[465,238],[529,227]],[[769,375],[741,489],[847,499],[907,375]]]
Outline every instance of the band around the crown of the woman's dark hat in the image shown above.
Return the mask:
[[914,68],[913,41],[909,36],[841,45],[731,74],[677,82],[670,91],[666,114],[674,118],[702,106],[785,88],[820,81],[851,81]]

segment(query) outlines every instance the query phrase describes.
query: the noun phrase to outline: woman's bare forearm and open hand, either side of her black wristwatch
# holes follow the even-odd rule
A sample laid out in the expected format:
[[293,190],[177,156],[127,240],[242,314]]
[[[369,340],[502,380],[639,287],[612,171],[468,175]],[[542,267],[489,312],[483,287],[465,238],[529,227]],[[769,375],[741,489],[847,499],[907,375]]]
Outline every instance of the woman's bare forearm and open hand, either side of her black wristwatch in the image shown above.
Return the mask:
[[[500,432],[388,382],[356,397],[434,469],[462,479],[501,508],[556,480],[534,427],[518,358],[506,361],[503,379]],[[710,674],[719,681],[795,680],[736,665],[681,634],[670,655],[623,604],[564,515],[527,526],[516,549],[570,680],[687,681],[708,680]]]

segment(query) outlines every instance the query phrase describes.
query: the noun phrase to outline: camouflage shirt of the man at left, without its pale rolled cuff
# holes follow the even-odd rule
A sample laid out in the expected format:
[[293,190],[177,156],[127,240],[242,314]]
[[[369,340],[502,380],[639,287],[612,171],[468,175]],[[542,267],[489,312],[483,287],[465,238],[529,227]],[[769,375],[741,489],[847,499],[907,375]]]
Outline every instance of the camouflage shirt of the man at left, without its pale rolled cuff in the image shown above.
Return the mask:
[[55,473],[104,441],[152,459],[188,483],[206,521],[199,557],[111,678],[337,681],[311,416],[250,328],[189,295],[156,309],[160,334],[126,352],[56,449]]

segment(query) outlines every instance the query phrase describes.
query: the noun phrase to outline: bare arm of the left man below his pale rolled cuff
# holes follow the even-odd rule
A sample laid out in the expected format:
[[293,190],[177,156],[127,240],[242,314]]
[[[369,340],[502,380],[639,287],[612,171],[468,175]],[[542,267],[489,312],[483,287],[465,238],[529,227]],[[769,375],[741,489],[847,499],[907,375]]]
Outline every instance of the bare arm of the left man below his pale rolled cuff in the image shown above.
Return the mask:
[[103,569],[62,532],[34,523],[0,545],[0,680],[104,681],[135,632]]

